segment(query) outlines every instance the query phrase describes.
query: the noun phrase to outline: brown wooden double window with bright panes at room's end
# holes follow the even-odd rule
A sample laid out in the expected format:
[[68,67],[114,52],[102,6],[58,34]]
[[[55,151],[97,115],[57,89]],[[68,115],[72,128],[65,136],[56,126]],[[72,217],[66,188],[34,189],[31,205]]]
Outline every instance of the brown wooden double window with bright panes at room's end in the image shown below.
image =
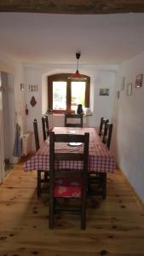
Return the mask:
[[48,77],[49,109],[54,113],[74,113],[78,104],[89,108],[89,77],[75,81],[68,79],[71,75],[62,73]]

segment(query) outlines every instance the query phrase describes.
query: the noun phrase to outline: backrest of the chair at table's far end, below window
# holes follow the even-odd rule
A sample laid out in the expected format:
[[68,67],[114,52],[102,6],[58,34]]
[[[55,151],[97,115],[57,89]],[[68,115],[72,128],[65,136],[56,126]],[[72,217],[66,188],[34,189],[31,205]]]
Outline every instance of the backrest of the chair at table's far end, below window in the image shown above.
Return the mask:
[[[68,119],[78,119],[78,123],[71,123]],[[75,121],[75,120],[74,120]],[[83,114],[66,113],[65,114],[65,127],[83,127]]]

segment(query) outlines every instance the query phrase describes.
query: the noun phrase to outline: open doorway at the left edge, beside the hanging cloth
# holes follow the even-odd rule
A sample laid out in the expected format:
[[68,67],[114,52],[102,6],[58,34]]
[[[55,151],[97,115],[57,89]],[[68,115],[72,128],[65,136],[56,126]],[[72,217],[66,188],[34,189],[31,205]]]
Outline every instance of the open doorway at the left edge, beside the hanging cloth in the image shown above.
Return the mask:
[[14,167],[14,75],[1,73],[3,109],[3,177]]

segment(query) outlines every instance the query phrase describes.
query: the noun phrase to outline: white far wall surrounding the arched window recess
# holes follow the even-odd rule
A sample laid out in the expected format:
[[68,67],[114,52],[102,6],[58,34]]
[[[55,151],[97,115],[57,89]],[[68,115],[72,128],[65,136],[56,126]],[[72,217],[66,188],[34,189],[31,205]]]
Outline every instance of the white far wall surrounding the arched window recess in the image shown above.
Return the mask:
[[[72,65],[39,65],[25,67],[26,103],[29,109],[27,119],[27,131],[33,131],[33,119],[37,119],[40,132],[40,140],[43,140],[41,117],[48,108],[47,102],[47,77],[54,73],[73,73],[75,66]],[[112,119],[113,95],[115,93],[116,66],[83,66],[80,72],[90,77],[90,108],[93,115],[87,119],[87,125],[98,126],[101,116]],[[29,84],[38,84],[37,92],[29,92]],[[100,88],[109,88],[109,96],[99,96]],[[37,104],[30,104],[32,96],[35,96]],[[63,117],[53,116],[50,118],[50,126],[64,124]]]

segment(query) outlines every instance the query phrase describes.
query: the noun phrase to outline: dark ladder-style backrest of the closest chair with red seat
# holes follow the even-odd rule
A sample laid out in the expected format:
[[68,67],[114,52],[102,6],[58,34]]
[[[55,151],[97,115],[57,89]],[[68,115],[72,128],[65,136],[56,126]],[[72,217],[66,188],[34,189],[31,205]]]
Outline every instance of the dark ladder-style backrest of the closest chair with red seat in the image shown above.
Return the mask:
[[[67,149],[64,150],[61,148],[60,150],[55,150],[55,143],[83,143],[84,150],[80,150],[80,152],[76,150],[70,150]],[[71,146],[69,146],[71,147]],[[89,156],[89,133],[86,132],[84,135],[78,135],[78,134],[55,134],[55,132],[51,131],[49,135],[49,175],[52,177],[52,183],[55,182],[55,178],[61,177],[67,175],[74,177],[75,175],[79,175],[81,172],[81,177],[84,177],[87,175],[88,171],[88,156]],[[80,169],[79,172],[76,170],[74,172],[72,170],[63,170],[60,172],[60,170],[57,172],[55,170],[55,160],[56,161],[82,161],[83,162],[83,169]],[[54,175],[55,172],[55,175]],[[83,174],[83,175],[82,175]]]

